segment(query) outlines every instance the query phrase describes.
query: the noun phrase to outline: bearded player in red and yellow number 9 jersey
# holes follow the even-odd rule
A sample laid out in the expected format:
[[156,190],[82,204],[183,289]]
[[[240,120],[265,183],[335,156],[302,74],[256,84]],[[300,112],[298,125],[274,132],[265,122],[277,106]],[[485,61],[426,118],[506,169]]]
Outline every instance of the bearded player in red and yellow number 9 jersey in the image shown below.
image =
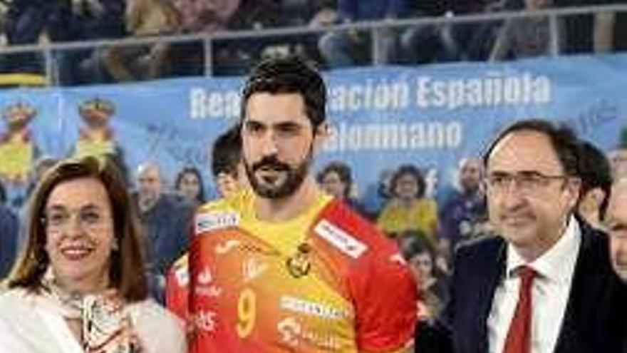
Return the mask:
[[190,352],[406,352],[417,290],[390,240],[309,175],[326,88],[272,58],[244,88],[251,188],[200,208],[190,248]]

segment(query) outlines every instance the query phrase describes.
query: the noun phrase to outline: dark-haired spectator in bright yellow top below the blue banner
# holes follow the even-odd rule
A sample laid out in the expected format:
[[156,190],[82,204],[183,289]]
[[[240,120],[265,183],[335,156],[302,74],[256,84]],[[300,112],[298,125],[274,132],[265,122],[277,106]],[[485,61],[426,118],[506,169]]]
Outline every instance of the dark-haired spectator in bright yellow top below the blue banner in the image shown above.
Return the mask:
[[437,205],[425,198],[423,173],[414,165],[401,165],[390,180],[392,198],[377,218],[380,230],[388,233],[418,230],[436,244]]

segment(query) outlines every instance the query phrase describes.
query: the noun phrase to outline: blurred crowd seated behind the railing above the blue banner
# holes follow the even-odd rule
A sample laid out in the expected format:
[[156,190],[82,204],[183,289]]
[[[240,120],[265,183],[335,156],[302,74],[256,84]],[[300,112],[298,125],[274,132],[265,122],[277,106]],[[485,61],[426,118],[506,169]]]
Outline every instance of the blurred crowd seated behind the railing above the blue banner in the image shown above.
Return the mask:
[[[619,4],[624,0],[596,1]],[[377,63],[420,64],[486,61],[541,56],[553,43],[561,53],[621,50],[623,14],[566,16],[551,39],[549,19],[390,26],[375,31],[325,30],[358,21],[438,18],[499,11],[534,11],[586,6],[586,0],[11,0],[0,10],[4,45],[97,39],[150,39],[219,31],[315,28],[281,36],[217,39],[211,56],[202,40],[166,44],[115,44],[53,52],[58,83],[110,83],[152,78],[199,76],[210,61],[212,73],[247,73],[259,58],[284,53],[309,56],[322,67]],[[375,38],[376,37],[376,38]],[[205,38],[205,37],[203,37]],[[209,36],[206,36],[209,38]],[[376,44],[373,56],[373,43]],[[42,53],[11,53],[0,58],[2,73],[43,73]]]

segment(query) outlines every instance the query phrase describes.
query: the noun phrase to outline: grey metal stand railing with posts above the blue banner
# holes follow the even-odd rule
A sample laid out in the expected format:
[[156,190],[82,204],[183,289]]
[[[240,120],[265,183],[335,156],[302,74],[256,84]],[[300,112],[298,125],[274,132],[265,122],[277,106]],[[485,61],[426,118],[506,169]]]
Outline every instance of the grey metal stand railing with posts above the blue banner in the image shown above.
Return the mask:
[[[585,6],[559,9],[544,9],[539,11],[498,11],[491,13],[468,14],[463,16],[440,16],[423,17],[413,19],[385,19],[380,21],[361,21],[350,24],[338,24],[335,26],[323,27],[289,27],[289,28],[267,28],[250,29],[244,31],[217,31],[211,34],[179,34],[170,36],[155,36],[150,38],[125,38],[115,40],[96,41],[76,41],[66,43],[46,42],[41,44],[5,46],[0,50],[0,61],[7,56],[35,55],[37,56],[38,69],[31,71],[20,71],[0,69],[1,86],[56,86],[61,83],[59,65],[59,54],[71,51],[85,51],[100,48],[124,47],[124,46],[150,46],[152,44],[185,44],[202,43],[201,73],[205,76],[212,76],[215,71],[215,47],[220,43],[232,42],[235,46],[242,43],[260,40],[299,37],[299,36],[320,36],[328,31],[368,31],[372,34],[371,41],[371,61],[373,65],[383,63],[381,53],[381,33],[385,29],[403,29],[410,26],[450,26],[457,24],[489,23],[494,21],[507,21],[511,19],[523,19],[533,17],[546,17],[549,19],[550,29],[550,49],[549,55],[558,56],[561,54],[560,48],[560,26],[559,20],[566,16],[581,15],[612,15],[619,12],[627,13],[627,4]],[[592,35],[592,34],[591,34]]]

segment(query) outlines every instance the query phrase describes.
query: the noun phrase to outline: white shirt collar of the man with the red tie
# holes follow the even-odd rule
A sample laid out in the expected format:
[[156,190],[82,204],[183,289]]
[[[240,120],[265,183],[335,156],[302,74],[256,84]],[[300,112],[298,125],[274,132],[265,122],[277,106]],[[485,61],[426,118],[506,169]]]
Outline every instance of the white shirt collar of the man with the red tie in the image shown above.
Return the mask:
[[564,234],[544,254],[532,262],[526,262],[512,244],[507,245],[507,277],[513,277],[515,270],[527,265],[532,267],[539,275],[551,282],[568,282],[571,277],[571,269],[574,267],[581,245],[581,228],[579,223],[571,216]]

